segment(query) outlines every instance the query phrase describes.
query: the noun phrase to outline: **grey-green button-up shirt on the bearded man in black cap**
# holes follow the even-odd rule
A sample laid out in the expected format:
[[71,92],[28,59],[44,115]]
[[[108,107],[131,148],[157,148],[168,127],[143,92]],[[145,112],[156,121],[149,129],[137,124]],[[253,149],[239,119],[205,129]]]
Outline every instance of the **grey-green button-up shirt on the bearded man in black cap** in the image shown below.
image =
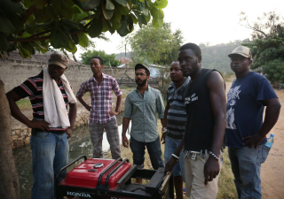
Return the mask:
[[130,134],[135,140],[154,142],[157,139],[156,112],[159,119],[163,119],[164,105],[159,90],[148,86],[142,97],[135,88],[126,96],[123,118],[132,120]]

